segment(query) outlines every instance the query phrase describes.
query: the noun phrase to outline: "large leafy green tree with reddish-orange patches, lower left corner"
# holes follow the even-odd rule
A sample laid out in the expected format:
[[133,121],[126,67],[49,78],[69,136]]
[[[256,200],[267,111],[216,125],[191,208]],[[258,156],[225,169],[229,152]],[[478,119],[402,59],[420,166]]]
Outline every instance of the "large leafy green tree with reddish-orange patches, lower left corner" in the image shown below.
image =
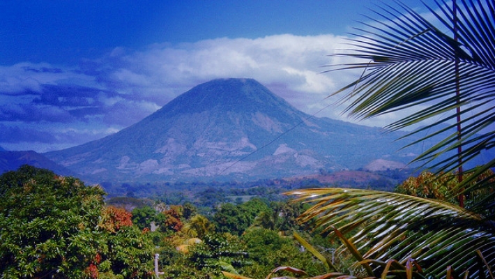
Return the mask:
[[130,214],[103,208],[98,186],[23,166],[0,176],[2,278],[146,276],[151,241]]

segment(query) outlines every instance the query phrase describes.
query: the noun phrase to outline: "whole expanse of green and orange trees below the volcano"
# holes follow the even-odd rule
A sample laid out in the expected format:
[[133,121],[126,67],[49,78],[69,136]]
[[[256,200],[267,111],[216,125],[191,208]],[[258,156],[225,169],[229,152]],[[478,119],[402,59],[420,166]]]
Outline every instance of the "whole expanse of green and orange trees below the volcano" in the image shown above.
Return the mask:
[[[446,200],[455,184],[441,184],[445,187],[426,172],[395,190]],[[24,165],[0,176],[0,273],[2,278],[224,278],[224,271],[264,278],[277,268],[279,276],[296,271],[316,276],[333,266],[365,275],[341,241],[312,228],[312,222],[300,222],[310,204],[280,195],[280,188],[268,189],[275,188],[229,193],[242,194],[238,198],[206,188],[196,199],[178,194],[105,199],[100,186]]]

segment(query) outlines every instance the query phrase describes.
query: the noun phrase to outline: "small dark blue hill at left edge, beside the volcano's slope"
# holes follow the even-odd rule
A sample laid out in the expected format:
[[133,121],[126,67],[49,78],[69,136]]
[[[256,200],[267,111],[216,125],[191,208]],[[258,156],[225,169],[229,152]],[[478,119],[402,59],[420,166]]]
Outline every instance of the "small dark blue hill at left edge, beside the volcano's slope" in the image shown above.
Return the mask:
[[32,165],[43,169],[50,169],[60,175],[75,175],[66,167],[56,164],[35,151],[0,151],[0,174],[11,170],[17,170],[22,165]]

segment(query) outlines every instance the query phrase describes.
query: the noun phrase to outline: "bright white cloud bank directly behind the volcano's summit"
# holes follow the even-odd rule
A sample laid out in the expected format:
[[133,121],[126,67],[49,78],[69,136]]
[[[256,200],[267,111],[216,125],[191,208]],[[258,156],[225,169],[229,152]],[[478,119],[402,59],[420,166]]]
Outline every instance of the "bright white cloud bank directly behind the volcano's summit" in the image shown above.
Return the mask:
[[[264,38],[218,38],[181,45],[152,45],[146,50],[116,56],[128,68],[116,70],[114,84],[141,89],[146,99],[167,101],[201,82],[222,77],[252,77],[301,110],[320,102],[339,86],[349,82],[347,73],[321,74],[321,66],[333,63],[344,41],[333,35],[277,35]],[[277,91],[281,85],[287,89]],[[306,98],[294,98],[293,94]],[[164,98],[166,96],[166,98]],[[160,103],[157,99],[157,103]]]

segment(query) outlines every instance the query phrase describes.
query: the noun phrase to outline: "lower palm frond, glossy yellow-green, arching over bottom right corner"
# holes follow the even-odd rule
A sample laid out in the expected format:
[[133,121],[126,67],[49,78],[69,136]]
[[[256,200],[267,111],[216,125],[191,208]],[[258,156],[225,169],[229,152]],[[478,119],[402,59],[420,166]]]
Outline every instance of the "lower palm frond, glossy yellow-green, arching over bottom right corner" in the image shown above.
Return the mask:
[[[318,188],[295,190],[296,201],[314,203],[301,222],[333,235],[353,232],[349,241],[364,259],[400,264],[413,258],[437,278],[448,266],[477,274],[477,250],[495,264],[495,227],[459,206],[374,190]],[[375,266],[376,267],[376,266]]]

